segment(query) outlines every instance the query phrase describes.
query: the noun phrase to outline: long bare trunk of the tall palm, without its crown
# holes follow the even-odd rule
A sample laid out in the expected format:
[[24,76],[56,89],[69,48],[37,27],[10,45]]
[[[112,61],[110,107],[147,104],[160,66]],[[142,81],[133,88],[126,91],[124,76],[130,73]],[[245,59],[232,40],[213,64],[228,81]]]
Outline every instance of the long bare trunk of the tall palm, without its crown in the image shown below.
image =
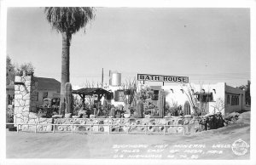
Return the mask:
[[69,47],[71,33],[62,32],[62,55],[61,55],[61,101],[59,114],[65,113],[65,84],[69,83]]

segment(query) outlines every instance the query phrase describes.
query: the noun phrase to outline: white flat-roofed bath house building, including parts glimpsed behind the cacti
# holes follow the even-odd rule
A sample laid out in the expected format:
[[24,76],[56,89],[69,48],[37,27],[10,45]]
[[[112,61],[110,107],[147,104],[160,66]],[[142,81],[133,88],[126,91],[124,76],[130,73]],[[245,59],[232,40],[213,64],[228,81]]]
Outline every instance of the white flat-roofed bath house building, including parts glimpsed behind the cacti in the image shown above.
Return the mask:
[[[191,102],[193,100],[204,114],[216,112],[228,114],[234,111],[241,111],[245,107],[245,91],[231,87],[226,83],[173,83],[173,85],[164,86],[140,84],[137,91],[145,87],[151,88],[154,93],[154,100],[158,100],[159,91],[164,90],[166,93],[166,105],[169,107],[178,105],[184,114],[195,112]],[[109,86],[108,89],[113,92],[112,105],[125,105],[124,100],[127,96],[121,86]]]

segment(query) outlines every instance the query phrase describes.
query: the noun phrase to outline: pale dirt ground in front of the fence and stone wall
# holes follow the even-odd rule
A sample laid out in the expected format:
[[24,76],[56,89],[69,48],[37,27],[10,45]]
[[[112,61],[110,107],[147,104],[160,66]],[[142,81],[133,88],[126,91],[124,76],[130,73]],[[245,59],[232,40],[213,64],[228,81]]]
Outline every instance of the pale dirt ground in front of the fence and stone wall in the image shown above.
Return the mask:
[[249,159],[249,120],[190,135],[25,133],[7,130],[7,158]]

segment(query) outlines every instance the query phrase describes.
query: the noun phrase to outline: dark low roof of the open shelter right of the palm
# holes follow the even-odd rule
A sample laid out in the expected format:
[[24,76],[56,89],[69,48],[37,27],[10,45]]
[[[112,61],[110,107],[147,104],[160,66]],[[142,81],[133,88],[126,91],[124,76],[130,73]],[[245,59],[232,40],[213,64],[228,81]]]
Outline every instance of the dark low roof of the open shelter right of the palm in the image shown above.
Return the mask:
[[79,88],[78,90],[73,90],[73,94],[84,94],[84,95],[93,95],[93,94],[110,94],[108,90],[103,88]]

